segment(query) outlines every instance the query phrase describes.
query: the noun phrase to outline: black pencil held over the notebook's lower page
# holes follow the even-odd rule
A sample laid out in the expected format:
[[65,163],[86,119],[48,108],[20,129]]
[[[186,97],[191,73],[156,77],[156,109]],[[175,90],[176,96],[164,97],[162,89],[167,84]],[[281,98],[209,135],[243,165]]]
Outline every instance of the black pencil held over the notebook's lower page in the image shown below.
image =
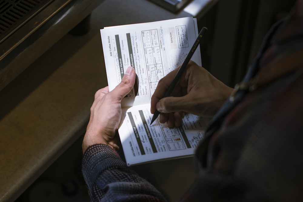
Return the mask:
[[[185,70],[186,66],[188,65],[188,62],[190,61],[192,55],[194,55],[195,50],[197,49],[198,45],[200,44],[201,38],[202,36],[205,34],[205,32],[207,31],[206,27],[203,27],[198,35],[198,38],[196,39],[194,45],[192,45],[188,55],[186,56],[185,60],[183,61],[181,67],[179,68],[175,78],[173,79],[173,81],[171,82],[170,86],[168,87],[165,95],[163,98],[170,96],[171,92],[173,91],[173,89],[175,88],[177,82],[179,81],[179,79],[181,78],[181,75],[183,73],[183,71]],[[158,110],[155,111],[152,119],[151,119],[151,124],[157,119],[157,117],[159,116],[160,112]]]

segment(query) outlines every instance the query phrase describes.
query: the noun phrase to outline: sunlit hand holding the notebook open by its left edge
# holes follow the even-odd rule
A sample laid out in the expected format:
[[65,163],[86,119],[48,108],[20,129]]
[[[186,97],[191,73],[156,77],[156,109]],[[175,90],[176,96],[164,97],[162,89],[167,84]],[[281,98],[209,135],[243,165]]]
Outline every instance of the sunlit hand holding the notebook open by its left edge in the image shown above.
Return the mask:
[[128,67],[115,89],[109,92],[107,86],[96,92],[82,142],[83,153],[93,144],[106,144],[119,149],[114,137],[122,116],[121,101],[132,90],[135,78],[134,68]]

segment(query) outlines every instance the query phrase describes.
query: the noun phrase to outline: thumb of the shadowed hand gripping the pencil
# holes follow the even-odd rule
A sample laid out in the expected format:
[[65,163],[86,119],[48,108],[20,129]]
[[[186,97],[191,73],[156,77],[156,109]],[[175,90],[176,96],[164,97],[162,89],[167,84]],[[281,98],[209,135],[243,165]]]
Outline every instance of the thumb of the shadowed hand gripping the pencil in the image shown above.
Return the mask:
[[156,109],[161,113],[188,112],[188,98],[186,96],[162,98],[156,104]]

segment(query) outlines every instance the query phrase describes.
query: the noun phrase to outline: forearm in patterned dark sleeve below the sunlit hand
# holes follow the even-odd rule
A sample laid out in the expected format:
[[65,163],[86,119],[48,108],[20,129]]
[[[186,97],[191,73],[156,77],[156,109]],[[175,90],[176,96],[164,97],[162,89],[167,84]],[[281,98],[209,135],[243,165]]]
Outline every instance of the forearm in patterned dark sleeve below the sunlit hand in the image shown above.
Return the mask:
[[138,176],[111,147],[88,147],[82,161],[82,174],[92,201],[165,201],[162,194]]

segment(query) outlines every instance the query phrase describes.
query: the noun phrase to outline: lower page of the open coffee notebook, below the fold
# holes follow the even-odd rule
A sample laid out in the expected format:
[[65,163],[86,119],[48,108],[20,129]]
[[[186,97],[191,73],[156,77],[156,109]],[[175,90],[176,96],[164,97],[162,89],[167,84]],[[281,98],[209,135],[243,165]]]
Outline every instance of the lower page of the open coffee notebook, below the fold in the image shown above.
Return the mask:
[[122,114],[119,136],[128,165],[192,156],[207,125],[193,114],[185,114],[181,127],[170,129],[158,119],[150,125],[150,104],[122,109]]

